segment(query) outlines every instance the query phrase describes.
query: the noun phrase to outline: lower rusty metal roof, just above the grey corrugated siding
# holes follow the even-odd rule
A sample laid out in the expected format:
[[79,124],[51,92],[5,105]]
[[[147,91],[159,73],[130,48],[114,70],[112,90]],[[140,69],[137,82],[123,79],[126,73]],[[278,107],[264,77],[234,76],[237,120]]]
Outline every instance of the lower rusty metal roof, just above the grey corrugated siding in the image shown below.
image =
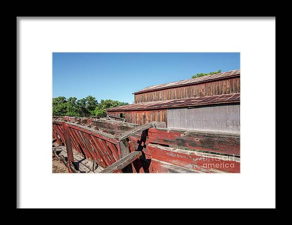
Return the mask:
[[193,97],[183,99],[172,99],[155,102],[143,102],[135,103],[115,108],[106,109],[107,111],[128,111],[128,110],[150,110],[150,109],[161,109],[161,108],[174,108],[174,107],[189,107],[189,106],[200,106],[210,104],[222,104],[239,102],[240,93],[237,94],[221,94],[205,97]]

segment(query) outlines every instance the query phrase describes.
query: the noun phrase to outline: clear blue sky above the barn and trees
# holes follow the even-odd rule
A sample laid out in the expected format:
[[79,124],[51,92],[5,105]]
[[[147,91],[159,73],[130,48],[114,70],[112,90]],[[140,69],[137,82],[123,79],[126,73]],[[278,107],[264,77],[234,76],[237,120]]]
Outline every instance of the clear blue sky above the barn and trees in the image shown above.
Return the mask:
[[53,53],[53,97],[131,104],[147,86],[239,68],[239,53]]

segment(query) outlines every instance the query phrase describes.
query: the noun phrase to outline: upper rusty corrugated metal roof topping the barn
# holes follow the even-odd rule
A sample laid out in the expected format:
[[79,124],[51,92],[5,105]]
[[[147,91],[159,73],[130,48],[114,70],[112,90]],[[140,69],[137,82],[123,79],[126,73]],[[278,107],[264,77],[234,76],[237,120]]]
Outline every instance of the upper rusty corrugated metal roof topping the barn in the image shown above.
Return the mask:
[[232,71],[227,71],[219,74],[213,74],[213,75],[207,75],[207,76],[201,76],[198,78],[192,78],[192,79],[187,79],[187,80],[180,80],[180,81],[175,81],[167,84],[159,84],[159,85],[153,85],[153,86],[148,86],[138,92],[134,92],[133,94],[138,94],[138,93],[143,93],[143,92],[149,92],[149,91],[154,91],[158,89],[164,89],[164,88],[170,88],[170,87],[175,87],[175,86],[183,86],[183,85],[189,85],[193,83],[199,83],[199,82],[205,82],[205,81],[212,81],[220,78],[224,78],[227,76],[234,76],[234,75],[240,75],[240,69],[238,70],[232,70]]

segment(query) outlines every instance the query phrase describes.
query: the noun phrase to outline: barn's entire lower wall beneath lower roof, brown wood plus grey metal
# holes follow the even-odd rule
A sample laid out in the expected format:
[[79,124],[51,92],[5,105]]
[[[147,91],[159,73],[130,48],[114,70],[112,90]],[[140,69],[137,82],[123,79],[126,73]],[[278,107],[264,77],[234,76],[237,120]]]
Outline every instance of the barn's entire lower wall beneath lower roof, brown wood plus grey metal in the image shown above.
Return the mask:
[[108,114],[120,116],[120,113],[125,113],[128,123],[139,125],[158,121],[165,122],[167,128],[239,133],[239,108],[239,104],[228,104],[165,110],[120,111],[108,112]]

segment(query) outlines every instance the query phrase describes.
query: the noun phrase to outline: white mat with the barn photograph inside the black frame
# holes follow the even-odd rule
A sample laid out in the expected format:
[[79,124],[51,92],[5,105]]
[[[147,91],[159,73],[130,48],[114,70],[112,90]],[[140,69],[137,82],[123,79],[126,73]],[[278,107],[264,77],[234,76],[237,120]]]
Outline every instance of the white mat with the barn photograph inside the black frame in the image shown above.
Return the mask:
[[275,78],[275,17],[17,17],[17,208],[274,209]]

